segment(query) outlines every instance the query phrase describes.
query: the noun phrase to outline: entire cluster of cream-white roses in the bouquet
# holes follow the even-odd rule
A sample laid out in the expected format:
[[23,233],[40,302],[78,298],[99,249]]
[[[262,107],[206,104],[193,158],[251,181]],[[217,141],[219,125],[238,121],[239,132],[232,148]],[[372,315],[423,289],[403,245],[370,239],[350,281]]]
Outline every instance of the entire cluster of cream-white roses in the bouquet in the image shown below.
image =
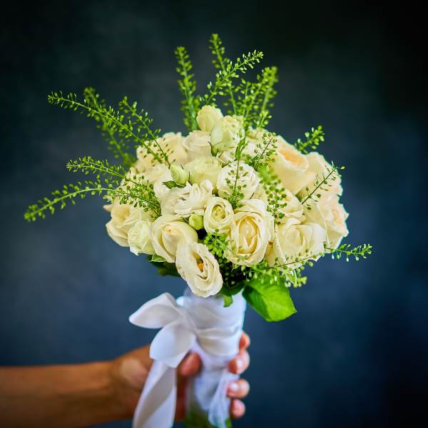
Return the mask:
[[[315,152],[304,155],[277,136],[272,169],[285,188],[278,209],[282,215],[273,218],[260,176],[244,161],[239,163],[237,183],[243,199],[239,208],[233,209],[230,182],[236,178],[235,149],[243,137],[240,118],[223,116],[220,109],[204,106],[197,122],[200,129],[186,137],[166,133],[158,139],[174,159],[170,168],[154,164],[144,148],[138,149],[138,160],[130,173],[153,184],[161,215],[154,218],[150,211],[121,205],[118,200],[107,205],[111,220],[106,228],[116,243],[136,255],[157,255],[175,263],[190,289],[202,297],[217,294],[223,277],[218,260],[198,242],[197,230],[226,234],[228,250],[224,256],[237,265],[252,266],[262,260],[271,265],[290,264],[299,255],[316,258],[325,248],[337,248],[348,233],[347,213],[339,203],[340,178],[328,190],[319,190],[323,193],[319,201],[300,203],[312,190],[315,178],[331,168],[323,156]],[[265,132],[248,133],[245,156],[255,156]],[[170,188],[165,185],[168,182],[177,186]]]

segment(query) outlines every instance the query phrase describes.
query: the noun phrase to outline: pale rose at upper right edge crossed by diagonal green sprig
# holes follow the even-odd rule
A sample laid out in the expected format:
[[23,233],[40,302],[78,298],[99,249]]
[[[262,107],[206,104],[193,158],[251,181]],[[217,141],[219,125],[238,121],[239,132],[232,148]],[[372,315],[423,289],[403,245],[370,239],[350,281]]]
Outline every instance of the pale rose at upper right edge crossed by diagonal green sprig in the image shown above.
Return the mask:
[[[311,192],[315,187],[315,180],[322,180],[322,177],[327,177],[330,171],[332,170],[332,165],[325,160],[325,157],[320,155],[317,152],[310,152],[306,155],[307,161],[309,163],[309,168],[307,171],[310,173],[310,177],[312,178],[302,190],[300,190],[301,195],[307,195],[308,191]],[[342,195],[342,185],[341,178],[336,173],[330,175],[327,184],[322,185],[317,189],[317,193],[320,195],[324,194],[335,194]]]

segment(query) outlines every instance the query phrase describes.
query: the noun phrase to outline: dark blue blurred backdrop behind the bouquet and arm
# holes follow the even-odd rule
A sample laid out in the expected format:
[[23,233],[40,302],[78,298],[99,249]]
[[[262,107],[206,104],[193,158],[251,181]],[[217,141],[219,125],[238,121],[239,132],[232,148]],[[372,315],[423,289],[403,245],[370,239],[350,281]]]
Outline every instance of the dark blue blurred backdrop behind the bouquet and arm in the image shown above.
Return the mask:
[[248,310],[252,390],[236,427],[411,426],[428,381],[426,48],[411,2],[20,3],[0,18],[0,365],[104,360],[155,334],[128,315],[185,284],[108,238],[101,199],[24,222],[27,205],[78,180],[66,161],[108,156],[89,119],[46,95],[126,94],[163,131],[185,131],[173,49],[187,46],[203,91],[217,32],[231,58],[261,49],[279,67],[270,130],[293,142],[325,127],[320,151],[347,165],[347,242],[374,246],[370,260],[308,270],[285,322]]

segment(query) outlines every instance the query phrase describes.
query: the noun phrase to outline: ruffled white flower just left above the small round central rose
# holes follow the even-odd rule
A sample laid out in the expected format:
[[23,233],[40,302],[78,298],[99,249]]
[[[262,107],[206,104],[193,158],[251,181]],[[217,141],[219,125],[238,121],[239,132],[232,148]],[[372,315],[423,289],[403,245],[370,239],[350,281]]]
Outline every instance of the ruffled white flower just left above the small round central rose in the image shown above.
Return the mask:
[[204,180],[200,185],[187,183],[183,188],[172,188],[161,199],[162,214],[176,214],[189,217],[190,214],[203,215],[208,200],[212,198],[213,185]]

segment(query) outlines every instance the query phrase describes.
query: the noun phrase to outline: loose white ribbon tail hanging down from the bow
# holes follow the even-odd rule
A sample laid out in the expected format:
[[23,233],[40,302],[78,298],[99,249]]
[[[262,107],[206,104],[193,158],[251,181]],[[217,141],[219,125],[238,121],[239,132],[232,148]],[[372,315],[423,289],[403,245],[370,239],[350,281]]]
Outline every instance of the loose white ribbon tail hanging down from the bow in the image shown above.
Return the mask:
[[153,362],[138,400],[133,428],[170,428],[174,423],[177,384],[175,369]]

